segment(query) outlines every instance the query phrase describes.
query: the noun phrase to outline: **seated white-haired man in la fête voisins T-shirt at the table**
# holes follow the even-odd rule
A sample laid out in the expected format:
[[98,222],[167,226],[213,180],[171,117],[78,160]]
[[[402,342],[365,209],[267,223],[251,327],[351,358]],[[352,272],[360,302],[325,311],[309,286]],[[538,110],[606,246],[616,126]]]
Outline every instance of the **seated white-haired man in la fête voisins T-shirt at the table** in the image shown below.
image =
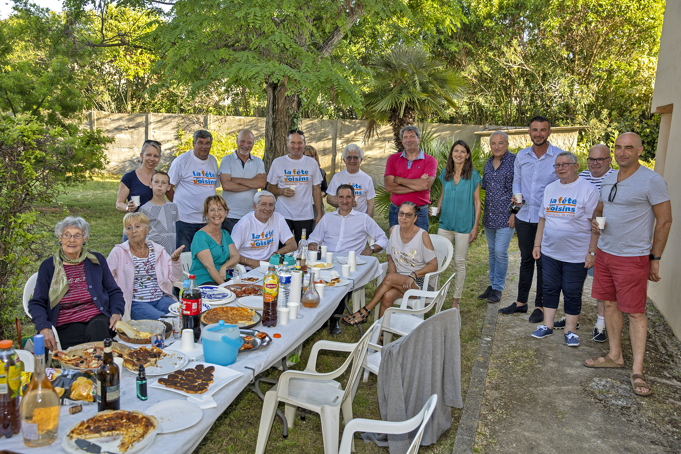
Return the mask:
[[[239,263],[253,270],[260,261],[269,261],[273,254],[296,250],[296,240],[286,220],[274,212],[276,198],[269,191],[259,191],[253,197],[253,210],[243,216],[232,230],[232,240],[239,251]],[[284,244],[279,248],[279,244]]]

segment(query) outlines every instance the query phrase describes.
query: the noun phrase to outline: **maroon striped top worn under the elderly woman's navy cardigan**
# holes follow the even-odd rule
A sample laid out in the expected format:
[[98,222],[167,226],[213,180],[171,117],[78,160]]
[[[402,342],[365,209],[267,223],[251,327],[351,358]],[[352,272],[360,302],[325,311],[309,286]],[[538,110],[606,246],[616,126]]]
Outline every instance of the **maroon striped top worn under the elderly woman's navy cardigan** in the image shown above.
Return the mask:
[[95,306],[88,291],[85,263],[64,265],[64,270],[69,281],[69,291],[59,302],[57,326],[67,323],[86,323],[101,314],[101,310]]

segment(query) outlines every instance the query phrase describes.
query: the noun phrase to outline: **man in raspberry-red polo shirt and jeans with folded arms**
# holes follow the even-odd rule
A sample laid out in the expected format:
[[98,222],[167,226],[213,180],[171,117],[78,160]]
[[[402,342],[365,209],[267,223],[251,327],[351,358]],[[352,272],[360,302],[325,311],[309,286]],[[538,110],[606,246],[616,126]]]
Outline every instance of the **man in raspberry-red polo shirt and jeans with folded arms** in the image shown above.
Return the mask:
[[428,231],[430,187],[437,175],[437,159],[419,147],[421,130],[417,127],[403,127],[400,137],[405,150],[388,157],[383,176],[383,188],[391,193],[388,223],[390,227],[396,225],[398,206],[413,201],[418,208],[416,225]]

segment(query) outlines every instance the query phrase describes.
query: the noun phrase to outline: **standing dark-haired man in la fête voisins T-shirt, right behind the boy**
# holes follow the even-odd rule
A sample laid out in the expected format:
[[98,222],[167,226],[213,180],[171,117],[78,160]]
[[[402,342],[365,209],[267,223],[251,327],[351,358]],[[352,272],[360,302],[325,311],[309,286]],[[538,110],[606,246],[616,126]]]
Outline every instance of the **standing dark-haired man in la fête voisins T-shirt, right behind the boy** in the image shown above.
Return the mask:
[[186,253],[191,252],[194,234],[205,225],[204,200],[215,195],[219,184],[217,159],[210,155],[212,134],[199,129],[194,133],[191,144],[193,150],[184,152],[170,164],[170,189],[166,193],[178,210],[176,246],[184,245]]

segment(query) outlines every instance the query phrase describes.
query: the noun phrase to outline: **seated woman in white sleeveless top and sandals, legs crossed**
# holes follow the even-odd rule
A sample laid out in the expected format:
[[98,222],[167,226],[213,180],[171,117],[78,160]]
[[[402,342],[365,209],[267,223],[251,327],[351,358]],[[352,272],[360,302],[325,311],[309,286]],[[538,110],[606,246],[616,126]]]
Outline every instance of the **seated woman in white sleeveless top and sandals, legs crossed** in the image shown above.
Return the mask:
[[[387,243],[387,273],[370,302],[348,317],[346,325],[366,323],[371,310],[381,303],[379,317],[409,289],[422,289],[424,276],[437,271],[435,248],[428,232],[416,225],[416,204],[405,201],[397,214],[398,224],[390,229]],[[432,290],[432,289],[428,289]],[[380,342],[379,342],[380,343]]]

